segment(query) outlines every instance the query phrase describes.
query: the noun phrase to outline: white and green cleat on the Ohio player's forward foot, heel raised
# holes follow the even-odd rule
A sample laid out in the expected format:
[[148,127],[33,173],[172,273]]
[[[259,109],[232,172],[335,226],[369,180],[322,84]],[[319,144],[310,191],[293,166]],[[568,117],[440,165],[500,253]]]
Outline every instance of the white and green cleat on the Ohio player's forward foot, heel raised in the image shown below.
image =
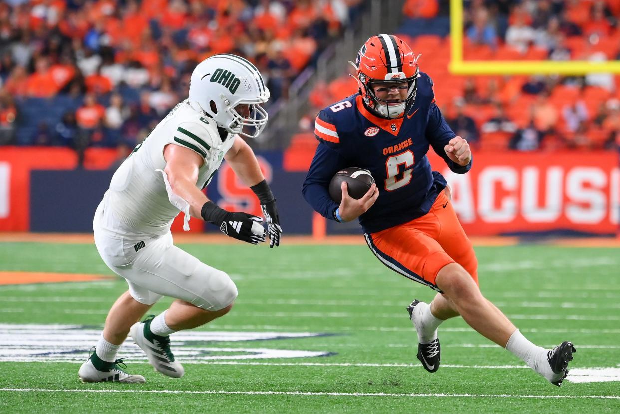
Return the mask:
[[180,378],[185,374],[185,369],[179,361],[175,361],[174,354],[170,351],[170,336],[155,335],[151,332],[151,321],[155,315],[149,315],[143,322],[131,325],[129,335],[149,359],[155,371],[165,376]]

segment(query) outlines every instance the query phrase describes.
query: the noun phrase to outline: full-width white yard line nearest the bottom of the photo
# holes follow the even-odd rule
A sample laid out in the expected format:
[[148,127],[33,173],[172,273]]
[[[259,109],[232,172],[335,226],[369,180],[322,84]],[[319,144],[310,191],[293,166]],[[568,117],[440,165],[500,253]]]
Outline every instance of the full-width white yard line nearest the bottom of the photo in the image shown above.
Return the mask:
[[224,390],[93,390],[93,389],[35,389],[35,388],[0,388],[9,392],[101,392],[101,393],[163,393],[163,394],[243,394],[243,395],[335,395],[339,397],[470,397],[470,398],[595,398],[620,399],[620,395],[520,395],[520,394],[405,394],[392,392],[309,392],[309,391],[224,391]]

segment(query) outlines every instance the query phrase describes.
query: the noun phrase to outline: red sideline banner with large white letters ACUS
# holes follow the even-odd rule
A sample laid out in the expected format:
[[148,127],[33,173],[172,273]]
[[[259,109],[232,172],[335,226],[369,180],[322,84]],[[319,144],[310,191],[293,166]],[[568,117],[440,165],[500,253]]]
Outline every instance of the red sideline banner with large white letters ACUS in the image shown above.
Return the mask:
[[434,154],[431,162],[469,235],[618,229],[616,153],[474,153],[467,174],[452,173]]

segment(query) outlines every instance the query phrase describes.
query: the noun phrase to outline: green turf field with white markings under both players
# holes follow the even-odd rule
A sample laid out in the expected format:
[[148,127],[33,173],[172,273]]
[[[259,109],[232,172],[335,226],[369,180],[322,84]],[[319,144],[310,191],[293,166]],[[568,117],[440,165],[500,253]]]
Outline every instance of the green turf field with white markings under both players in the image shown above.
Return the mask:
[[[239,288],[228,315],[171,336],[185,377],[154,372],[133,349],[128,371],[146,384],[79,381],[79,363],[126,289],[122,279],[0,286],[0,413],[620,412],[618,374],[611,382],[571,382],[569,374],[556,387],[459,318],[440,328],[440,370],[424,371],[405,307],[433,290],[390,271],[366,246],[180,246]],[[575,372],[620,371],[618,249],[523,245],[477,254],[482,292],[529,339],[573,341]],[[0,271],[112,274],[94,245],[43,243],[0,243]],[[228,336],[192,340],[200,333]],[[239,333],[312,336],[232,340]],[[69,339],[83,344],[63,345]],[[258,358],[265,352],[270,358]]]

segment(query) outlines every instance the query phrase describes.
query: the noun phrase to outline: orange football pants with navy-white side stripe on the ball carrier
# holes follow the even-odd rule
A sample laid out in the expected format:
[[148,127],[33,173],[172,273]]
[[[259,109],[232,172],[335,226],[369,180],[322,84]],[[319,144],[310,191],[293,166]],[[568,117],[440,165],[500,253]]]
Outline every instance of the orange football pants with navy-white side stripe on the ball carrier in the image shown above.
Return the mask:
[[455,262],[478,283],[476,253],[446,190],[422,217],[365,236],[375,256],[388,268],[435,290],[441,292],[435,283],[437,273]]

